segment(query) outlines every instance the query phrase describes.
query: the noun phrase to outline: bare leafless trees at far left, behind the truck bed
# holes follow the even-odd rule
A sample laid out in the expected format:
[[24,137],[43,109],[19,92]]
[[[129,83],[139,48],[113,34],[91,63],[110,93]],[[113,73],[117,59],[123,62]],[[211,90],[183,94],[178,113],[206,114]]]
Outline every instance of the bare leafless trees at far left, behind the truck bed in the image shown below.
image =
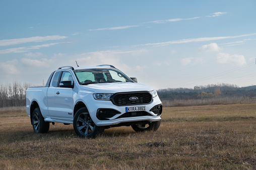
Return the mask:
[[26,106],[26,90],[28,83],[6,83],[0,84],[0,108]]

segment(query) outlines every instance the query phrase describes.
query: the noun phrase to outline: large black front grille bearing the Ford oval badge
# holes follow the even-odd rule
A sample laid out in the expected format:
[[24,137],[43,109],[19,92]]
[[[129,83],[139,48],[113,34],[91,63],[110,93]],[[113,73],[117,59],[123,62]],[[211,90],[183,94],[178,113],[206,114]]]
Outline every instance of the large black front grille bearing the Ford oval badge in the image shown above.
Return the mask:
[[[129,99],[131,97],[138,97],[138,100],[132,101]],[[152,101],[152,95],[149,92],[115,93],[111,97],[111,101],[116,106],[148,104]]]

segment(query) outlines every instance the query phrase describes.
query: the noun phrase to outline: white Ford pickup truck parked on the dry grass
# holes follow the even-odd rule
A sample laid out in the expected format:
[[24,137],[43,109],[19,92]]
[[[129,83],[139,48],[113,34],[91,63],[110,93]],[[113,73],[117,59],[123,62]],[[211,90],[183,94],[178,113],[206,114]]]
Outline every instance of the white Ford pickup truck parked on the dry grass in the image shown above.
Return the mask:
[[161,123],[162,103],[156,90],[112,65],[60,67],[45,86],[26,92],[26,111],[35,133],[48,132],[50,122],[73,123],[76,134],[88,138],[105,128],[157,130]]

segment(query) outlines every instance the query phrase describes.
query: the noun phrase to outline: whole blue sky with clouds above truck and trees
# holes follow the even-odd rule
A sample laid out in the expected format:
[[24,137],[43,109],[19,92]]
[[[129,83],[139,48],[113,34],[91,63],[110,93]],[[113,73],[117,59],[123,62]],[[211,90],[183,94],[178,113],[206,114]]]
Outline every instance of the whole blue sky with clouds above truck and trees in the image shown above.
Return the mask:
[[1,83],[111,64],[140,83],[255,85],[255,1],[1,1]]

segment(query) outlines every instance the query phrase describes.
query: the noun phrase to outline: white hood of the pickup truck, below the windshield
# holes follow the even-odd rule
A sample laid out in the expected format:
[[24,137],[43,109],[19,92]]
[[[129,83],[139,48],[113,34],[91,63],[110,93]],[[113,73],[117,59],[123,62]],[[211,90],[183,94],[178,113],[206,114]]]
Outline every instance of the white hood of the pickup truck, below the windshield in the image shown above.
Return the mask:
[[95,93],[118,93],[118,92],[154,90],[149,85],[131,83],[131,82],[88,84],[88,85],[82,85],[81,89],[94,91]]

